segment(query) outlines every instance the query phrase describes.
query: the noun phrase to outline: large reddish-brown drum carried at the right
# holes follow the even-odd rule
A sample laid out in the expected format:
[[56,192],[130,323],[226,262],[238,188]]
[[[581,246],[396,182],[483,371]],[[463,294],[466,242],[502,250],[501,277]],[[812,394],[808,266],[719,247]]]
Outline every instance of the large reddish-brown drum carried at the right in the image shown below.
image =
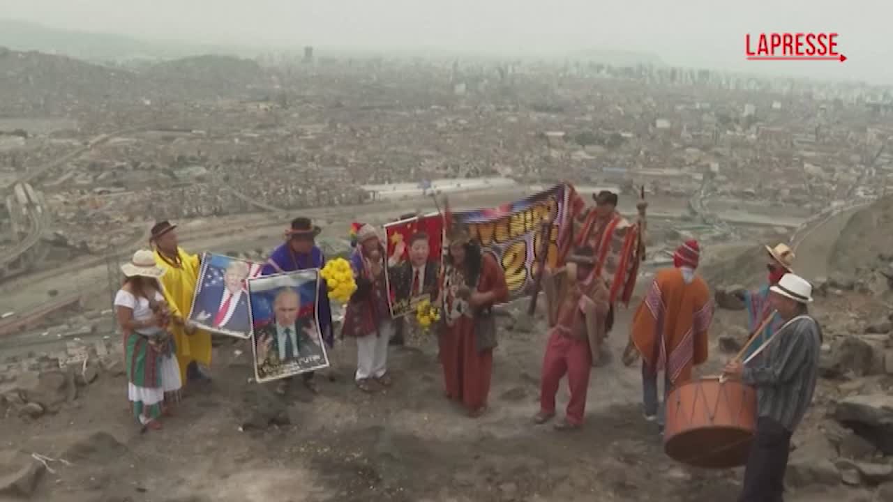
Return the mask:
[[667,397],[663,451],[693,467],[738,467],[747,463],[755,429],[755,389],[719,377],[688,381]]

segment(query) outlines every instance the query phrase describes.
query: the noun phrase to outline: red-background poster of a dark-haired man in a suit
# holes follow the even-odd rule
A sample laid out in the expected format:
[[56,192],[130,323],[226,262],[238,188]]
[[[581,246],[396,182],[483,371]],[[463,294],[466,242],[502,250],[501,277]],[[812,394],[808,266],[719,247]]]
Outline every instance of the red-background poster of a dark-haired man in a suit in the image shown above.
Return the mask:
[[438,296],[443,217],[417,216],[385,225],[388,239],[386,280],[393,317],[415,311],[422,299]]

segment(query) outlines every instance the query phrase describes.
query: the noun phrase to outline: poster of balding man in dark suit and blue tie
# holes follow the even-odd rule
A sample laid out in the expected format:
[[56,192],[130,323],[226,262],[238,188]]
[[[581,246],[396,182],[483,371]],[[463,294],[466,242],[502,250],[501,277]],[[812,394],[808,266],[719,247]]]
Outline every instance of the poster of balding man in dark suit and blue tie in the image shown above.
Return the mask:
[[329,366],[316,313],[319,272],[305,269],[248,280],[258,382]]

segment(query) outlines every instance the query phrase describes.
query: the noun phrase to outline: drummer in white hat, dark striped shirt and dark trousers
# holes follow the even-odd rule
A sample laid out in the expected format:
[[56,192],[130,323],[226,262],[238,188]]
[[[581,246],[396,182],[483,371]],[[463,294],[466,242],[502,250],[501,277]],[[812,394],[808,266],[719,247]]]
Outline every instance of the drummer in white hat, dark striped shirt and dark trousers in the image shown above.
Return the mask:
[[772,339],[756,347],[766,356],[755,363],[735,360],[724,374],[756,388],[756,434],[747,458],[739,502],[780,501],[790,438],[813,399],[818,378],[822,329],[808,313],[812,285],[786,273],[772,285],[769,303],[783,324]]

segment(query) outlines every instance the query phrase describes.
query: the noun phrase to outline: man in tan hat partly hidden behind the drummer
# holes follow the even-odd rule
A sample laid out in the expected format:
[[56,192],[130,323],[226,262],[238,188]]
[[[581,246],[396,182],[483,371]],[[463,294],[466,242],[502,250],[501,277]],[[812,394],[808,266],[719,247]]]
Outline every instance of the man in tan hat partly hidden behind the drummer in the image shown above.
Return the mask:
[[791,265],[794,263],[794,252],[784,243],[780,243],[775,247],[764,246],[766,249],[766,270],[768,271],[768,280],[760,289],[755,291],[747,291],[741,289],[735,291],[734,295],[744,301],[747,307],[747,332],[753,333],[767,316],[772,315],[772,321],[766,325],[759,339],[747,348],[745,358],[754,353],[756,347],[762,345],[765,340],[772,338],[772,333],[779,329],[784,322],[779,314],[772,314],[772,305],[769,302],[769,289],[781,280],[781,276],[786,273],[794,272]]

